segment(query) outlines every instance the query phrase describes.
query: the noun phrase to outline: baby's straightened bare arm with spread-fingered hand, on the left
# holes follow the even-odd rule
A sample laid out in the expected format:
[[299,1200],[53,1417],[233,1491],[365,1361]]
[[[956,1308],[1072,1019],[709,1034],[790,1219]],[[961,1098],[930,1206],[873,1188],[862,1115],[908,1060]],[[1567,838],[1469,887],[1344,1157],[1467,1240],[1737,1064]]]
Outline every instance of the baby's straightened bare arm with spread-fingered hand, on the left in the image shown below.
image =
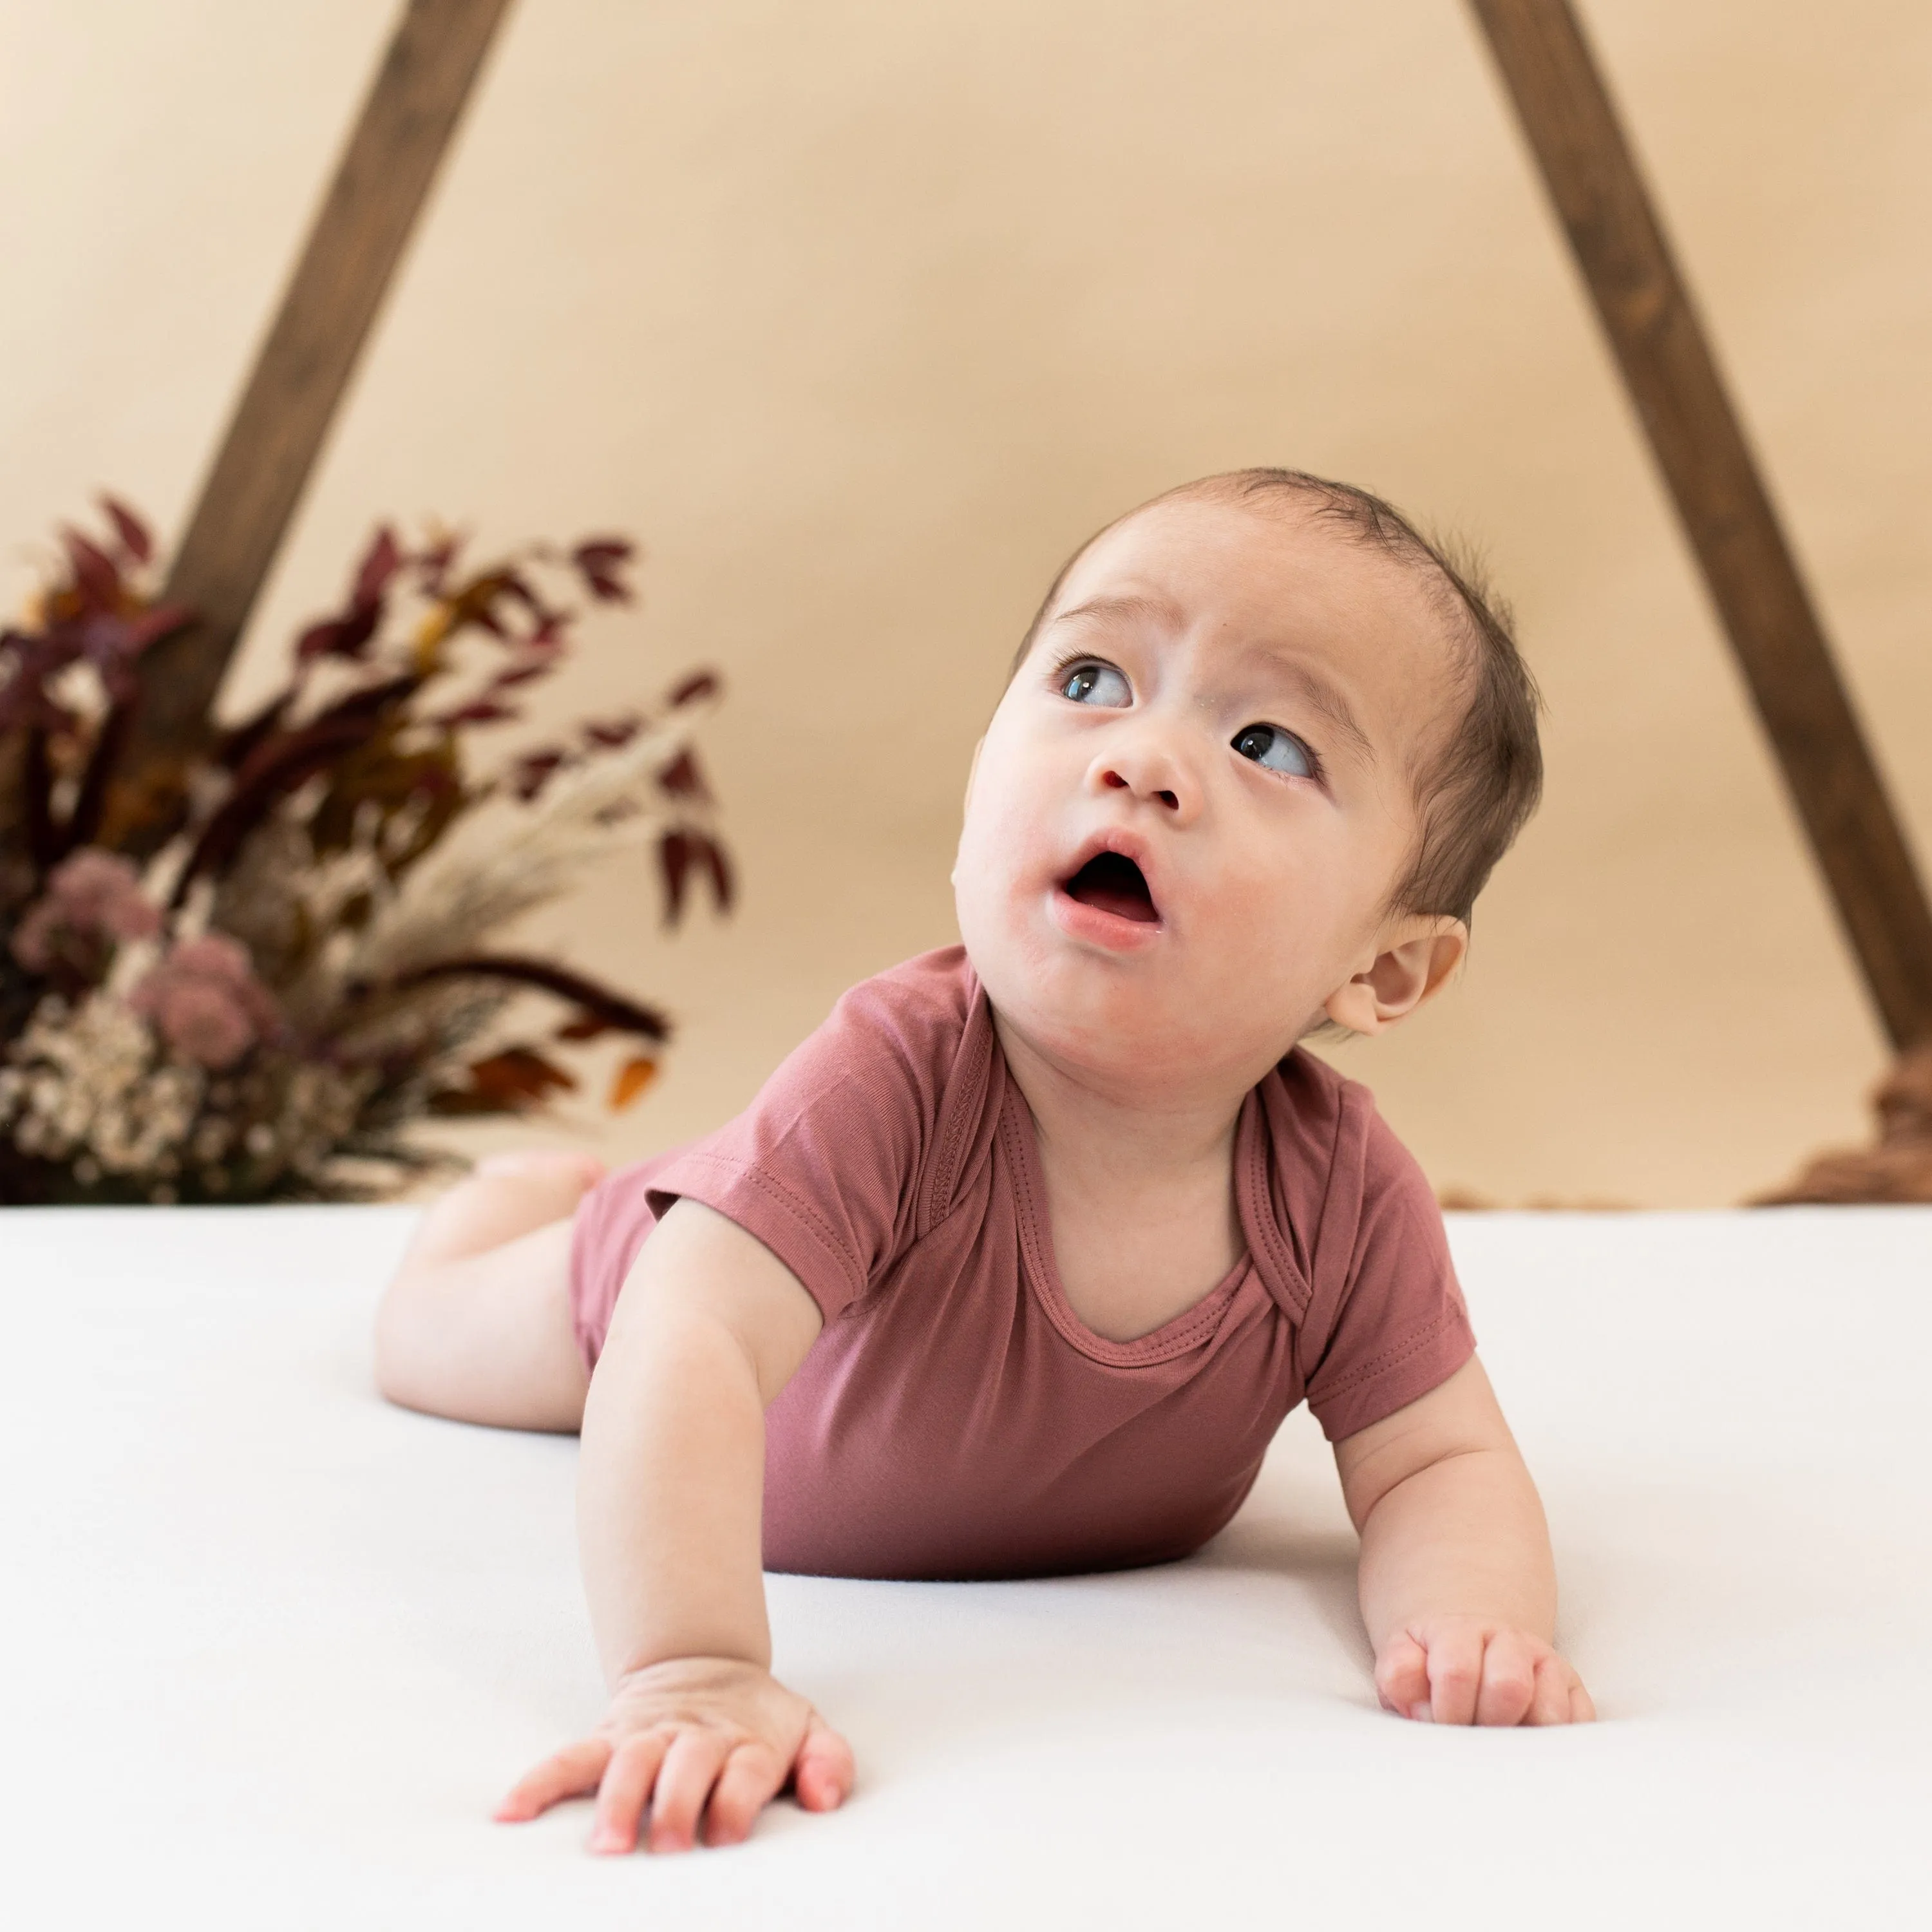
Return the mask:
[[790,1779],[829,1810],[852,1752],[771,1677],[759,1561],[765,1405],[817,1337],[777,1256],[676,1202],[632,1267],[583,1406],[578,1540],[612,1685],[591,1737],[539,1764],[498,1818],[597,1791],[591,1849],[742,1839]]

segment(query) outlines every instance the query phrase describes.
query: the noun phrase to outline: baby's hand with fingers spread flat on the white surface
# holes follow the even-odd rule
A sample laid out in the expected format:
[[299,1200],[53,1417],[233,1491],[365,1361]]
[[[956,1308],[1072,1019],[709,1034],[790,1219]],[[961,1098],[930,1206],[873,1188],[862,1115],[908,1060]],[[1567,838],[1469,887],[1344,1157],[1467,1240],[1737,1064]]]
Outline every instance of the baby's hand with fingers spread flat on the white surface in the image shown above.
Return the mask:
[[[497,1806],[516,1824],[562,1799],[597,1793],[591,1851],[736,1845],[790,1783],[806,1810],[852,1791],[852,1747],[769,1671],[734,1658],[672,1658],[618,1679],[597,1729],[545,1758]],[[709,1803],[707,1803],[709,1801]]]

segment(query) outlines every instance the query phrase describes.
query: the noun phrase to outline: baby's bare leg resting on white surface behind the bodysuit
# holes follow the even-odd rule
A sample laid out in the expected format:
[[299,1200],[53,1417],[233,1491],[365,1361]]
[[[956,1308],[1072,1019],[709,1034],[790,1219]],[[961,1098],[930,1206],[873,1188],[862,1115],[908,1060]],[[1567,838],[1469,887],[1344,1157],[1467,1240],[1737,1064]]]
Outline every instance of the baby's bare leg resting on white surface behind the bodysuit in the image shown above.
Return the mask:
[[582,1426],[570,1217],[601,1177],[589,1155],[508,1153],[429,1209],[375,1318],[375,1381],[392,1403],[510,1430]]

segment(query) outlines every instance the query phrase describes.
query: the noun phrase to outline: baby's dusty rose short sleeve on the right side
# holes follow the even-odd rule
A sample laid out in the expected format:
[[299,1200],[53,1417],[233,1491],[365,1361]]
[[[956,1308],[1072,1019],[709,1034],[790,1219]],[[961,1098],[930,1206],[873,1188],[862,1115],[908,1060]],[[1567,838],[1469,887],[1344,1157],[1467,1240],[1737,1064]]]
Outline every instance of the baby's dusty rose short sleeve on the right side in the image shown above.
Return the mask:
[[[1308,1406],[1329,1441],[1441,1387],[1476,1352],[1441,1208],[1420,1165],[1372,1105],[1358,1148],[1360,1209],[1339,1308],[1308,1366]],[[1335,1173],[1329,1184],[1347,1179]]]

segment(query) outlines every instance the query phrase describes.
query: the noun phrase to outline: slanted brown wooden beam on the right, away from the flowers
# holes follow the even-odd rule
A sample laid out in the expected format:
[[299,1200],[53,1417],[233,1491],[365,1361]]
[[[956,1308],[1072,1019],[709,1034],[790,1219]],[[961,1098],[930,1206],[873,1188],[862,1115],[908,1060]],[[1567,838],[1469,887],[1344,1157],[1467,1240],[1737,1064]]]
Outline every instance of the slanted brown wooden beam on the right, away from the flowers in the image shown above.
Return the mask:
[[1932,912],[1569,0],[1470,0],[1783,767],[1872,1003],[1932,1039]]

